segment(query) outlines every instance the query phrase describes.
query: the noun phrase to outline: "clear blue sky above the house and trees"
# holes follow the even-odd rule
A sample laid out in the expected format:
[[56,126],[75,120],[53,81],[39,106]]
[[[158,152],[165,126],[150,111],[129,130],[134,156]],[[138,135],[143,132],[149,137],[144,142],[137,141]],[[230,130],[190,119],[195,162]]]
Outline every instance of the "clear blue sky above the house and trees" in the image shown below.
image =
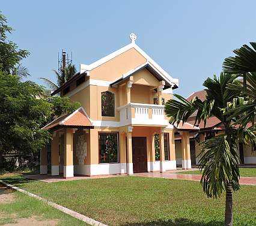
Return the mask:
[[90,64],[130,43],[141,47],[172,77],[175,93],[187,97],[207,77],[221,72],[225,57],[255,41],[255,1],[2,1],[15,29],[10,40],[31,55],[23,61],[29,79],[55,81],[58,52]]

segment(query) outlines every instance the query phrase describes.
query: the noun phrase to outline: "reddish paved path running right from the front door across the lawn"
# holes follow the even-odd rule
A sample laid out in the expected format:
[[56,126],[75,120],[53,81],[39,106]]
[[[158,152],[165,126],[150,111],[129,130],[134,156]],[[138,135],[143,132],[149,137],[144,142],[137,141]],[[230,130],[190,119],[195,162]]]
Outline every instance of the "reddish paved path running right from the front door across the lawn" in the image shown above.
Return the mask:
[[[133,174],[133,176],[156,177],[177,180],[201,180],[201,174],[181,174],[172,173],[171,171],[165,173],[135,173]],[[256,177],[240,177],[239,183],[240,185],[256,185]]]

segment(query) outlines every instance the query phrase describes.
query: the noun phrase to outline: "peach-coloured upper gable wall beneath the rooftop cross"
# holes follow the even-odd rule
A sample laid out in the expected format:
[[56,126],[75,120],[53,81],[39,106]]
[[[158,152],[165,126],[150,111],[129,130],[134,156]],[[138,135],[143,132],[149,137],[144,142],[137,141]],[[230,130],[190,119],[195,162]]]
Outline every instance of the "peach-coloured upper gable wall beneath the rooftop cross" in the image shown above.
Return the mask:
[[124,73],[144,64],[147,60],[134,48],[127,50],[90,71],[90,79],[115,81]]

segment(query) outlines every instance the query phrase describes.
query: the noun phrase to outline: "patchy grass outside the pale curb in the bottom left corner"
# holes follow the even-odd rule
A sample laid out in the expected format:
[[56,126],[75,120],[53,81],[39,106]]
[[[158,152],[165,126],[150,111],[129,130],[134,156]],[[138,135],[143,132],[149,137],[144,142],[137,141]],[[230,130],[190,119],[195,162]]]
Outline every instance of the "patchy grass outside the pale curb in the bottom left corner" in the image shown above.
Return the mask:
[[13,192],[14,200],[0,203],[0,225],[15,223],[19,218],[37,216],[39,220],[55,220],[57,225],[85,225],[84,222],[54,209],[43,201],[29,197],[20,192]]

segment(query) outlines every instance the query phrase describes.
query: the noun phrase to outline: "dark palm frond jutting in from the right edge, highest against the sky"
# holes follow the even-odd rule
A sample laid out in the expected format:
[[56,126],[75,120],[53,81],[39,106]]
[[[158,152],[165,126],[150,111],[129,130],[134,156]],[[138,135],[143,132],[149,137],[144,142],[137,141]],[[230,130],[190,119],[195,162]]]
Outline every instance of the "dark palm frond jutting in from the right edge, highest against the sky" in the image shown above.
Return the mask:
[[233,52],[236,56],[225,58],[222,68],[226,73],[243,74],[247,72],[256,72],[256,43],[250,43],[252,48],[248,45],[243,45]]

